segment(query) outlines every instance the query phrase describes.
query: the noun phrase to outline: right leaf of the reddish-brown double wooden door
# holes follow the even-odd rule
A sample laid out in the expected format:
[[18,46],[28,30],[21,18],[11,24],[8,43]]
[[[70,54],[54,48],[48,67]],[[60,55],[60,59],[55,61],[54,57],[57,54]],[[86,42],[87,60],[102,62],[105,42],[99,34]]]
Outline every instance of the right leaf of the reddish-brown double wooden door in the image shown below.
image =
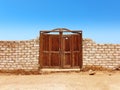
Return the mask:
[[63,68],[82,67],[82,38],[80,34],[63,35]]

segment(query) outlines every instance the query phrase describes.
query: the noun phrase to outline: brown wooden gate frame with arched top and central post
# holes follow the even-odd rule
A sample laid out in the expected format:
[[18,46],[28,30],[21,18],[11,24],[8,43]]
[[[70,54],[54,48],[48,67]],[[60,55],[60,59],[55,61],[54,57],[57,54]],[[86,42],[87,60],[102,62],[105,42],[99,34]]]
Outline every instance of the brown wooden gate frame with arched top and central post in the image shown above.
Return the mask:
[[[65,33],[72,33],[72,34],[67,34],[67,35],[64,35],[64,32]],[[55,34],[55,35],[58,35],[59,36],[59,40],[60,40],[60,50],[59,50],[59,55],[60,55],[60,57],[59,57],[59,59],[60,59],[60,62],[59,62],[59,66],[58,67],[51,67],[51,66],[48,66],[48,67],[44,67],[43,66],[43,37],[44,37],[44,35],[46,34],[46,35],[50,35],[50,37],[52,36],[52,34],[50,34],[50,33],[58,33],[58,34]],[[64,65],[64,57],[62,57],[62,56],[64,56],[63,54],[65,54],[65,51],[63,51],[63,37],[64,36],[70,36],[70,48],[71,48],[71,46],[72,46],[72,36],[73,35],[79,35],[79,39],[80,39],[80,44],[79,44],[79,66],[78,67],[72,67],[73,66],[73,62],[72,62],[72,58],[74,57],[74,56],[72,56],[72,57],[70,57],[71,58],[71,67],[65,67],[65,65]],[[51,31],[48,31],[48,30],[43,30],[43,31],[40,31],[40,49],[39,49],[39,64],[40,64],[40,68],[82,68],[82,31],[81,30],[73,30],[73,31],[71,31],[71,30],[69,30],[69,29],[66,29],[66,28],[57,28],[57,29],[53,29],[53,30],[51,30]],[[50,47],[50,46],[49,46]],[[48,53],[50,53],[50,52],[48,52]],[[72,54],[73,55],[73,51],[72,51],[72,53],[70,53],[70,54]]]

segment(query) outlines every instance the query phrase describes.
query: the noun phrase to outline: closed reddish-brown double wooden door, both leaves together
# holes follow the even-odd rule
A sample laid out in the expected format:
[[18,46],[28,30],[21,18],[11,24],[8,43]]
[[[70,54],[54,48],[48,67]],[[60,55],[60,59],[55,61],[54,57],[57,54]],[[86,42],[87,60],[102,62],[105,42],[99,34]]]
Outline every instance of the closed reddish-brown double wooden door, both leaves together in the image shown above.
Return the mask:
[[82,67],[81,34],[41,34],[40,66],[41,68]]

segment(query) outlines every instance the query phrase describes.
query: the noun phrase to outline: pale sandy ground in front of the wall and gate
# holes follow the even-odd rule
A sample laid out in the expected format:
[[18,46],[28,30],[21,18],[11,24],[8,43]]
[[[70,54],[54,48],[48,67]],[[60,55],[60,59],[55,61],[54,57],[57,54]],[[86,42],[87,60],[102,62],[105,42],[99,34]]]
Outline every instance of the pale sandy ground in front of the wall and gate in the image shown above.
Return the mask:
[[0,75],[0,90],[120,90],[120,72]]

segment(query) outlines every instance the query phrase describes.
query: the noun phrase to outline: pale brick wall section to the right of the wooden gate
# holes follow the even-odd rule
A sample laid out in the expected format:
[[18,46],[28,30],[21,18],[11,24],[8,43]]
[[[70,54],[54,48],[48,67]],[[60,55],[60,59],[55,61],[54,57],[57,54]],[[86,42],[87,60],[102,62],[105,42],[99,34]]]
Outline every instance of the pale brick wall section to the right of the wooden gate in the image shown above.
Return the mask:
[[83,40],[83,65],[114,68],[120,65],[120,44],[96,44]]

